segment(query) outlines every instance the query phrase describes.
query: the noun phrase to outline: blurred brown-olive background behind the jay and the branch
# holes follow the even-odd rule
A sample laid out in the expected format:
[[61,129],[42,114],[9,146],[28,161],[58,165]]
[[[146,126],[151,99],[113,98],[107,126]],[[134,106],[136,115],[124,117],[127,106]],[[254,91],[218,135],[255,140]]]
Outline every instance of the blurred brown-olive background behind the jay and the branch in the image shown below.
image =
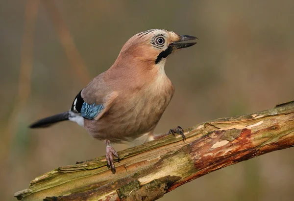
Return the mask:
[[[27,126],[68,110],[138,32],[199,38],[166,63],[176,91],[157,133],[294,100],[293,11],[293,0],[0,0],[1,200],[16,200],[15,192],[54,168],[105,154],[103,142],[72,122]],[[293,154],[226,167],[160,200],[292,201]]]

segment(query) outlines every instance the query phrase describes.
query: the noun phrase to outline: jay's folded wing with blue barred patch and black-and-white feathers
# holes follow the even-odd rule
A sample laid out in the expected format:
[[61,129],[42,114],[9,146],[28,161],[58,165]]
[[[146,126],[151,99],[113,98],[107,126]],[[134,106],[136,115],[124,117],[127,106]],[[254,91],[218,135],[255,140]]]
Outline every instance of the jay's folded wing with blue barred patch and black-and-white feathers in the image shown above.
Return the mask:
[[103,74],[76,95],[71,109],[73,112],[80,113],[86,119],[98,120],[111,108],[118,94],[106,86]]

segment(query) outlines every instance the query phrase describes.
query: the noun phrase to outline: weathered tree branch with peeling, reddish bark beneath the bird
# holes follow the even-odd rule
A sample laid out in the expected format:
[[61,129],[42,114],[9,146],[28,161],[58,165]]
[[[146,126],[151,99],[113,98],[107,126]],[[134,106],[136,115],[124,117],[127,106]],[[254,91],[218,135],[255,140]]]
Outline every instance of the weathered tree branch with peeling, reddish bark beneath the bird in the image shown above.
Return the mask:
[[60,167],[15,193],[18,200],[142,200],[162,197],[223,167],[294,146],[294,101],[253,114],[212,120],[119,152],[116,174],[105,156]]

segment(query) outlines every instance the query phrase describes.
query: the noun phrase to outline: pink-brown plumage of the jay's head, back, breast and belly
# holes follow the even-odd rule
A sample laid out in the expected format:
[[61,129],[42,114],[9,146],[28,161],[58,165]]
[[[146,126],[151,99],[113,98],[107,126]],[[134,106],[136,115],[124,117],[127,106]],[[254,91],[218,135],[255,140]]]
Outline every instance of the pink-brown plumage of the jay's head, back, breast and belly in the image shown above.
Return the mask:
[[154,62],[162,49],[150,45],[150,39],[158,33],[166,34],[168,43],[180,39],[166,30],[136,34],[123,45],[114,65],[83,89],[82,97],[89,103],[105,104],[112,97],[109,94],[116,95],[107,114],[84,120],[93,137],[121,142],[152,134],[174,93],[164,71],[165,60]]

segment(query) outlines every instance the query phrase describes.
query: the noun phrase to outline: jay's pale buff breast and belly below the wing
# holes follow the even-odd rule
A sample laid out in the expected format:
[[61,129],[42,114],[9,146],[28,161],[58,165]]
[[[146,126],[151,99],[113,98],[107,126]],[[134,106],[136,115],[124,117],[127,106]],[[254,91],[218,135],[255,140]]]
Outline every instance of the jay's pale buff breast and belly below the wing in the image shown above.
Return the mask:
[[92,135],[119,142],[153,131],[173,93],[173,85],[166,75],[140,90],[122,91],[107,115],[97,121],[97,130]]

